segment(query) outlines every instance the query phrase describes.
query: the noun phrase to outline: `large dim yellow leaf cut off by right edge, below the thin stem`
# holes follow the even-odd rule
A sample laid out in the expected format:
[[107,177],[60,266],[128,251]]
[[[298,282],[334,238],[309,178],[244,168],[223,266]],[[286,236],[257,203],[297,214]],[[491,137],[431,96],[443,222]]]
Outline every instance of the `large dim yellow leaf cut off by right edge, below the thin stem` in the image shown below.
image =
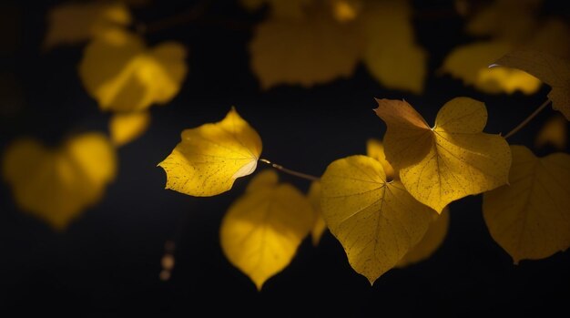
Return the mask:
[[491,236],[518,263],[543,259],[570,247],[570,156],[536,158],[512,146],[511,184],[483,195]]

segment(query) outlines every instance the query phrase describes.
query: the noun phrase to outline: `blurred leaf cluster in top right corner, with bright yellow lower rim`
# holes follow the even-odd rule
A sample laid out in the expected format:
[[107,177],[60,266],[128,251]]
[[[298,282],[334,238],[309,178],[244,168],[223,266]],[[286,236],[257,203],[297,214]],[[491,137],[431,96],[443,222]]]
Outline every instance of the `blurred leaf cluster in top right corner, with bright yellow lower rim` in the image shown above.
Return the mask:
[[[489,68],[517,47],[570,56],[569,26],[562,20],[537,15],[541,1],[496,0],[468,17],[466,31],[483,39],[458,46],[443,61],[442,70],[486,93],[533,94],[540,81],[509,68]],[[534,75],[534,74],[533,74]],[[541,78],[542,79],[542,78]]]

